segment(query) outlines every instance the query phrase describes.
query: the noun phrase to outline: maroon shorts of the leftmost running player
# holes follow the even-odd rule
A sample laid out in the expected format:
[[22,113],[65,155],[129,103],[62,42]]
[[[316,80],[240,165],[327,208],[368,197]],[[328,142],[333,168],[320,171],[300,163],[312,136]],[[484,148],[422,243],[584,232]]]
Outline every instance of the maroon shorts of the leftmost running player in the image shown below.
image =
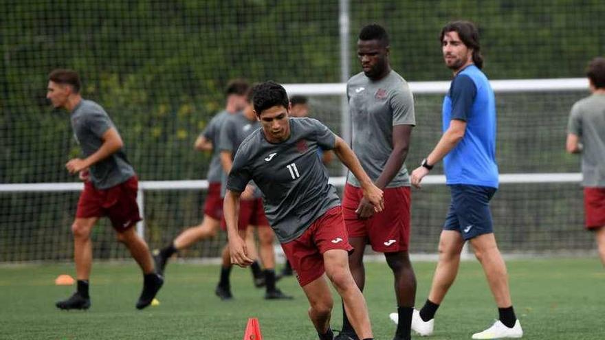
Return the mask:
[[86,181],[78,200],[76,218],[108,216],[116,231],[124,231],[142,218],[137,205],[139,181],[136,176],[108,189],[96,189]]

